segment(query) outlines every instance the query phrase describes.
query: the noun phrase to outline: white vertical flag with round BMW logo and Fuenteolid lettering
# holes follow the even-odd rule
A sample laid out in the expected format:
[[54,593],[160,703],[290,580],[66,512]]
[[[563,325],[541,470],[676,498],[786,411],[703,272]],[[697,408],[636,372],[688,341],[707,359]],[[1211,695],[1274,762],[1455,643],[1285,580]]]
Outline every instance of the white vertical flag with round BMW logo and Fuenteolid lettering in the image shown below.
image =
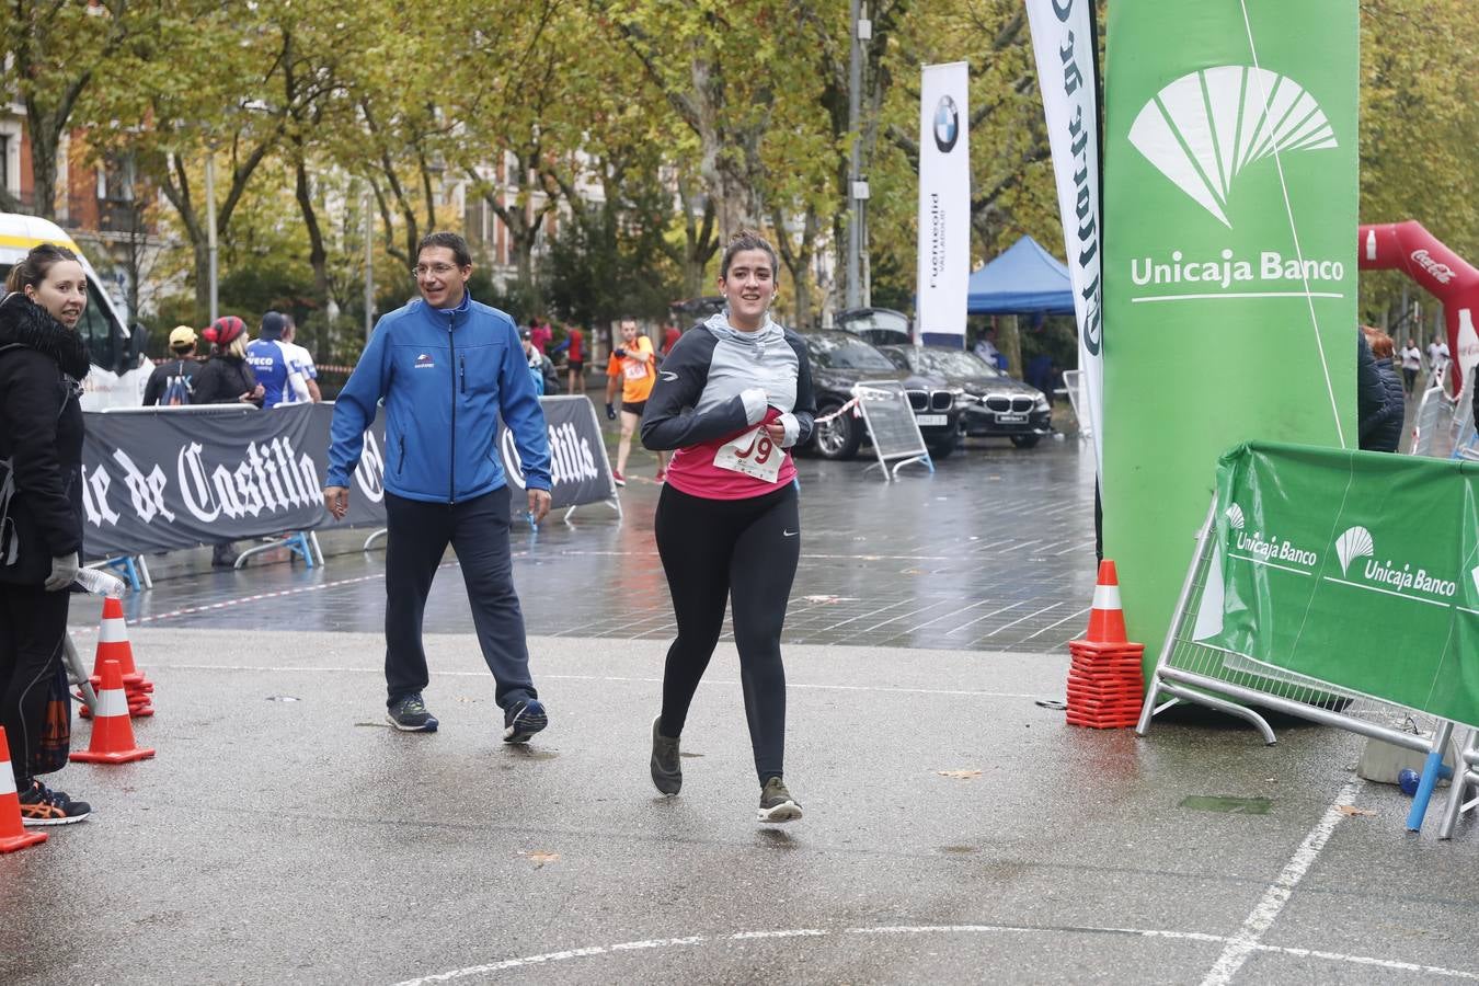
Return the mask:
[[970,140],[966,62],[924,65],[920,80],[918,302],[914,341],[963,349],[970,279]]

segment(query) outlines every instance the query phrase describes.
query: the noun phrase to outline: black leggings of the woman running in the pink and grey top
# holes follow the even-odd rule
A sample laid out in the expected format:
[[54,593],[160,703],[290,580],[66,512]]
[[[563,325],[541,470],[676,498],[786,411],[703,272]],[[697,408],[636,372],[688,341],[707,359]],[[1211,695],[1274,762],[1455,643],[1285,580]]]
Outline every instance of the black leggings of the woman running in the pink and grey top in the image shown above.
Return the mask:
[[677,640],[663,671],[664,736],[679,736],[734,608],[740,681],[750,721],[754,769],[763,785],[781,776],[785,757],[785,667],[781,628],[802,556],[796,486],[750,500],[704,500],[663,488],[657,550],[673,594]]

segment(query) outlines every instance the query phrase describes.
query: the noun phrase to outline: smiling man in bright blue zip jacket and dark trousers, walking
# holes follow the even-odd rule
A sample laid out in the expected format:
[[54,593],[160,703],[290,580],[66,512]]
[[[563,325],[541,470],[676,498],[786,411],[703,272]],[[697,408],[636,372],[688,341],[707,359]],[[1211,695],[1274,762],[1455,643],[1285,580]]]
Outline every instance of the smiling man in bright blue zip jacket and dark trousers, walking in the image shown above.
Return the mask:
[[495,415],[513,433],[529,516],[550,507],[544,412],[513,321],[467,294],[472,256],[457,234],[433,232],[417,251],[420,302],[390,312],[334,402],[324,506],[349,509],[349,475],[385,399],[385,679],[390,724],[435,732],[426,711],[422,616],[447,545],[457,550],[482,656],[497,683],[503,739],[522,744],[547,718],[529,679],[524,613],[509,554],[512,503]]

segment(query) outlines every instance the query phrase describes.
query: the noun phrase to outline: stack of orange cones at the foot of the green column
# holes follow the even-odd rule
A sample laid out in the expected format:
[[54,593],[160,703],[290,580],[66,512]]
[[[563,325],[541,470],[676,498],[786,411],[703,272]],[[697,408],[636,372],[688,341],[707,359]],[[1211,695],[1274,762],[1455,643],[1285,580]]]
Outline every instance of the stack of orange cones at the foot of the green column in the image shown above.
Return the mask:
[[1126,729],[1140,718],[1145,676],[1143,643],[1130,643],[1120,606],[1120,578],[1114,562],[1099,563],[1099,584],[1089,613],[1089,633],[1071,640],[1068,650],[1068,723],[1090,729]]

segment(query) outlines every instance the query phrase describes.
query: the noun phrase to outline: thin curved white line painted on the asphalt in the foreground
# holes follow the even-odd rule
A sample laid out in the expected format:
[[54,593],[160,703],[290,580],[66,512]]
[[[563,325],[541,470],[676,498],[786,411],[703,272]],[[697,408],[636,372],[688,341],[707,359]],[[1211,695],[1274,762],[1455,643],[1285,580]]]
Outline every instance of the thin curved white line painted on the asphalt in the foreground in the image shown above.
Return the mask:
[[[467,979],[469,976],[487,976],[490,973],[501,973],[510,968],[524,968],[528,965],[541,965],[544,962],[563,962],[577,958],[590,958],[596,955],[611,955],[615,952],[634,952],[634,951],[652,951],[666,949],[674,946],[692,946],[692,945],[708,945],[717,942],[753,942],[753,940],[769,940],[769,939],[825,939],[837,934],[879,934],[879,936],[896,936],[896,934],[1124,934],[1142,939],[1170,939],[1177,942],[1204,942],[1210,945],[1219,943],[1233,943],[1236,939],[1229,939],[1223,934],[1205,934],[1202,931],[1168,931],[1160,928],[1114,928],[1114,927],[1031,927],[1031,925],[1010,925],[1010,924],[898,924],[898,925],[881,925],[873,928],[842,928],[839,931],[824,930],[824,928],[785,928],[776,931],[735,931],[734,934],[719,934],[719,936],[704,936],[694,934],[680,939],[648,939],[642,942],[621,942],[618,945],[593,945],[581,949],[566,949],[563,952],[544,952],[541,955],[527,955],[524,958],[510,958],[500,962],[485,962],[482,965],[467,965],[464,968],[454,968],[445,973],[436,973],[435,976],[422,976],[419,979],[407,979],[396,986],[426,986],[427,983],[448,983],[457,979]],[[1479,980],[1479,973],[1472,973],[1460,968],[1444,968],[1441,965],[1420,965],[1417,962],[1404,962],[1399,959],[1384,959],[1370,955],[1344,955],[1341,952],[1325,952],[1321,949],[1300,949],[1300,948],[1285,948],[1278,945],[1262,945],[1253,943],[1250,951],[1268,952],[1273,955],[1288,955],[1293,958],[1313,958],[1327,962],[1347,962],[1353,965],[1368,965],[1374,968],[1384,968],[1404,973],[1426,973],[1429,976],[1444,976],[1448,979],[1463,979],[1463,980]]]

